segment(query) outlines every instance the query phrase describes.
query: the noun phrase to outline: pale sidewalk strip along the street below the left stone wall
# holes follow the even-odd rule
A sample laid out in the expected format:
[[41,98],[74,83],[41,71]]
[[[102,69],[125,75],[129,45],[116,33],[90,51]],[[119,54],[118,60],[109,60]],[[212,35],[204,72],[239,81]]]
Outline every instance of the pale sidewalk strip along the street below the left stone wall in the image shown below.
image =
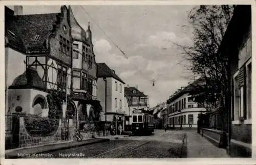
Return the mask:
[[42,152],[52,152],[57,150],[65,150],[72,147],[79,147],[94,143],[102,143],[110,141],[106,138],[95,138],[95,139],[87,139],[81,142],[62,142],[62,143],[53,143],[44,146],[36,146],[36,147],[24,147],[24,148],[17,148],[5,151],[5,158],[18,158],[21,154],[35,154],[35,153],[42,153]]

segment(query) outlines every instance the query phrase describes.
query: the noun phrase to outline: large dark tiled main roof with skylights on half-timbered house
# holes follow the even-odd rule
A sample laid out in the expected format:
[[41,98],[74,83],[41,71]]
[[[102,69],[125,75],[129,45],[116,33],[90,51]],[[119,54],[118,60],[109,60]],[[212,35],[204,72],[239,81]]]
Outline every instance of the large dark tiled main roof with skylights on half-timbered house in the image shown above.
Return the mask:
[[[6,12],[10,13],[9,9]],[[47,51],[46,39],[55,31],[60,15],[61,13],[15,16],[8,14],[5,20],[5,36],[9,45],[17,45],[24,51]],[[40,35],[38,40],[34,40],[36,35]]]

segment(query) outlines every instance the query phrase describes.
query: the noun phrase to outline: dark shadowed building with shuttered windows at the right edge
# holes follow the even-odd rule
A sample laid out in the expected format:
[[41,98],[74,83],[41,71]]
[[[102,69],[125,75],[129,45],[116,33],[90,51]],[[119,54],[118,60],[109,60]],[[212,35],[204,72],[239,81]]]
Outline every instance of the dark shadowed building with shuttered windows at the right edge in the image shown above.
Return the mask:
[[230,123],[228,147],[232,157],[251,157],[251,6],[237,5],[219,53],[229,57]]

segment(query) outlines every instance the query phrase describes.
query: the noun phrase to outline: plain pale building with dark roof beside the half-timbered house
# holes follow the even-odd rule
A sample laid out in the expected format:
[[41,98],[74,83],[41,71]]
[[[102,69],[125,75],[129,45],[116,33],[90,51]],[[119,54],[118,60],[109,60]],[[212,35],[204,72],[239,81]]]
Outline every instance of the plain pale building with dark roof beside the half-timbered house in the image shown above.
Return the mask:
[[[124,85],[115,71],[105,63],[98,63],[97,98],[102,104],[101,121],[114,122],[115,128],[124,128]],[[117,130],[117,129],[116,129]]]

